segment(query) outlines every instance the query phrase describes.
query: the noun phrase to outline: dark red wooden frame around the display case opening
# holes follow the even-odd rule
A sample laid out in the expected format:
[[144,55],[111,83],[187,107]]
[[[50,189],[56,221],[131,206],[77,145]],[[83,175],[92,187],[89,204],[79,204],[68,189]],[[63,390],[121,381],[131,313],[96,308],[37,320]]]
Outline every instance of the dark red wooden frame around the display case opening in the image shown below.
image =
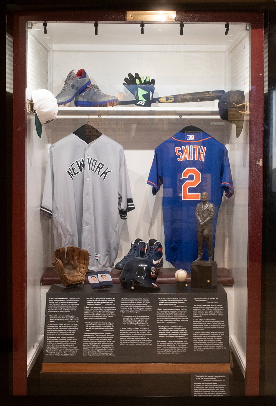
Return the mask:
[[[27,394],[26,332],[26,76],[27,22],[126,22],[123,11],[17,11],[14,13],[13,93],[13,394]],[[263,171],[263,60],[262,12],[177,13],[177,21],[251,24],[251,86],[249,125],[249,221],[247,272],[246,392],[259,395],[261,317],[261,243]]]

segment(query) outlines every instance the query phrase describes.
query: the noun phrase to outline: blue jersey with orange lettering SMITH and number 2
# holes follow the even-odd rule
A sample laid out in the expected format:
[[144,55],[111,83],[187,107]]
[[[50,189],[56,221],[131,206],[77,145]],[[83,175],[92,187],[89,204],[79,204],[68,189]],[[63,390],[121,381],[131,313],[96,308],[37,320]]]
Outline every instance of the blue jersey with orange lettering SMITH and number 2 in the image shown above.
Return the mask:
[[[166,260],[175,268],[191,271],[197,258],[196,205],[201,193],[215,205],[213,246],[223,191],[234,194],[226,147],[206,132],[178,132],[154,152],[147,184],[155,195],[163,185],[163,221]],[[207,251],[203,259],[207,260]]]

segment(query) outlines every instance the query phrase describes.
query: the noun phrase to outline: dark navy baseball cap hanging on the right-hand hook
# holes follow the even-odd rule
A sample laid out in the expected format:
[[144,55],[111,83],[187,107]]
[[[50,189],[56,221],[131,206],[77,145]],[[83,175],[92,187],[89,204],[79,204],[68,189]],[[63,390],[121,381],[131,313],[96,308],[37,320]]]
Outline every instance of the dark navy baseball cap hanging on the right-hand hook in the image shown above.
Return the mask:
[[241,113],[244,103],[244,92],[242,90],[231,90],[224,93],[218,101],[218,112],[222,120],[236,125],[236,136],[241,134],[244,125],[244,114]]

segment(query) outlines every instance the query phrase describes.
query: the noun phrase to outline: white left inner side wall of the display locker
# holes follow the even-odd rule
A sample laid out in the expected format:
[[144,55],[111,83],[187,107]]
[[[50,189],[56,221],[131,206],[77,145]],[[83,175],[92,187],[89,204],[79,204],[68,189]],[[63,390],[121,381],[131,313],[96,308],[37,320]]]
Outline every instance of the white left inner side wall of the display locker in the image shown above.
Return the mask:
[[[48,51],[28,35],[28,91],[48,89]],[[49,130],[51,131],[51,126]],[[27,134],[27,371],[42,346],[40,278],[52,258],[51,225],[41,221],[40,205],[49,144],[45,129],[37,135],[34,114],[28,113]],[[42,309],[44,313],[45,309]]]

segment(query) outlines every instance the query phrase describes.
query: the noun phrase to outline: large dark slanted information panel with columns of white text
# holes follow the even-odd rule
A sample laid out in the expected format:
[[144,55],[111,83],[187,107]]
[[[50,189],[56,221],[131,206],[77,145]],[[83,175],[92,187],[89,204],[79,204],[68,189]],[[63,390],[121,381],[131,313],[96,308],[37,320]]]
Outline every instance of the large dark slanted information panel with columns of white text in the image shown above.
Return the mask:
[[227,295],[176,284],[160,291],[66,289],[46,298],[44,363],[229,363]]

